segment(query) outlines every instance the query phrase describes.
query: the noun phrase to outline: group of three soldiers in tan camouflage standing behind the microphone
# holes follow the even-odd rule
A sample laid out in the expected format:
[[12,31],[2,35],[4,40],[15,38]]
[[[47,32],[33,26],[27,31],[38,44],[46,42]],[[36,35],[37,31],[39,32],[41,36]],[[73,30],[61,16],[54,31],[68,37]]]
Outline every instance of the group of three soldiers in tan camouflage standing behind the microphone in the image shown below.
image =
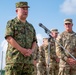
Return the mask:
[[76,75],[76,33],[72,26],[72,19],[65,19],[63,33],[58,35],[58,29],[52,29],[53,38],[43,38],[35,75]]

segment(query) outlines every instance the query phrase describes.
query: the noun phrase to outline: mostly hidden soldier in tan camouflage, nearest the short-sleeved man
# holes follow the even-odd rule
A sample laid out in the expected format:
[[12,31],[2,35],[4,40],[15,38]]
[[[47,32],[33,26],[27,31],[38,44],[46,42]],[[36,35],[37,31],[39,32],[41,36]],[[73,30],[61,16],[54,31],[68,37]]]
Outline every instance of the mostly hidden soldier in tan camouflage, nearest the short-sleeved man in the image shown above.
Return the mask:
[[46,73],[46,60],[45,60],[45,50],[46,44],[48,43],[48,38],[43,38],[43,44],[39,47],[39,60],[37,63],[37,75],[47,75]]

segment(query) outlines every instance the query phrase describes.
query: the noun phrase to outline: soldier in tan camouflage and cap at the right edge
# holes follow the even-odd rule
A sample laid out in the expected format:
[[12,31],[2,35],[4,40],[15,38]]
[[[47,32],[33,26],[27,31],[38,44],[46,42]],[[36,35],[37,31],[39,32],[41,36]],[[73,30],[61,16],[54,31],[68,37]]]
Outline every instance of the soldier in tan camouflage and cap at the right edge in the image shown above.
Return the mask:
[[56,54],[60,58],[58,75],[76,75],[76,60],[68,54],[69,52],[76,58],[76,33],[72,30],[72,26],[72,19],[65,19],[65,31],[57,38],[57,42],[66,49],[63,50],[63,48],[56,43]]

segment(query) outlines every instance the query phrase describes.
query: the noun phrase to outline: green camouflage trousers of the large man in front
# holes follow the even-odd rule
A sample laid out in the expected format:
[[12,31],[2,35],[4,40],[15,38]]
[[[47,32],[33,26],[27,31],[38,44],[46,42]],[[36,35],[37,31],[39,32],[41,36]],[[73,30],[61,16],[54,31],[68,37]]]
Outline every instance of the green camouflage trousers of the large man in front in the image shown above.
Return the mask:
[[33,75],[33,64],[7,64],[5,67],[5,75]]

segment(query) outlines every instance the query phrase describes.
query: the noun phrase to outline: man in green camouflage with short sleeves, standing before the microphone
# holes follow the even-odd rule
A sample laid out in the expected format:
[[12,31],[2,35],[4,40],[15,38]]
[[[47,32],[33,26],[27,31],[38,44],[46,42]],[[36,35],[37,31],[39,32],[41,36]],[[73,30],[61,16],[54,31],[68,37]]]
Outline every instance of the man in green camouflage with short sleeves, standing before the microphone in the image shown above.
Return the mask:
[[17,2],[17,17],[7,22],[5,39],[8,48],[5,75],[33,75],[34,73],[34,50],[37,39],[33,25],[26,20],[28,8],[27,2]]

